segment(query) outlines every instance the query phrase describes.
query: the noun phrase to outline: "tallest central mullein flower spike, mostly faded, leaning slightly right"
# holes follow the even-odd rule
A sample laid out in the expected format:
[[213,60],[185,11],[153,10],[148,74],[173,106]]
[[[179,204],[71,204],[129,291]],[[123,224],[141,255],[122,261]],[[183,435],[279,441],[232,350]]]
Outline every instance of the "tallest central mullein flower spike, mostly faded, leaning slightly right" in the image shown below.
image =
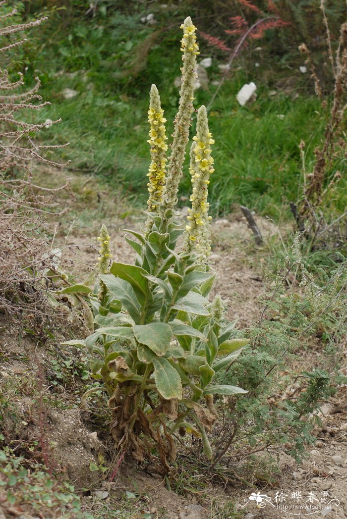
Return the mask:
[[196,79],[196,56],[199,48],[196,43],[195,31],[190,17],[181,25],[183,29],[182,47],[182,84],[180,90],[180,102],[174,121],[174,134],[171,145],[171,155],[167,168],[165,191],[163,196],[163,208],[172,209],[177,203],[177,192],[182,176],[182,167],[185,155],[185,146],[189,139],[189,127],[193,112],[194,83]]

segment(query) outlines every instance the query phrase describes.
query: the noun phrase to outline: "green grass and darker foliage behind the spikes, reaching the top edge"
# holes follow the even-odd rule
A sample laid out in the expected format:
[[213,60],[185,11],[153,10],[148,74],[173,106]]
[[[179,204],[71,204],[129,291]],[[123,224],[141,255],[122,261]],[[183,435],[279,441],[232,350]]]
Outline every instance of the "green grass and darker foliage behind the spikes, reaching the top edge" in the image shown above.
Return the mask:
[[[291,25],[268,31],[264,39],[251,42],[242,50],[209,114],[217,143],[213,151],[216,172],[210,186],[215,215],[229,212],[234,203],[243,203],[279,217],[283,204],[287,211],[288,200],[296,200],[301,192],[300,141],[306,143],[309,172],[314,148],[323,137],[326,114],[314,95],[309,74],[300,74],[298,70],[303,58],[297,49],[305,38],[314,51],[314,60],[323,64],[319,66],[319,75],[323,74],[324,85],[329,89],[331,74],[318,0],[295,5],[289,0],[275,3]],[[32,32],[29,44],[13,64],[27,77],[41,78],[43,98],[52,102],[43,116],[62,118],[61,125],[47,129],[47,139],[71,142],[63,158],[72,160],[73,170],[102,175],[115,192],[122,190],[132,201],[143,204],[150,161],[146,144],[148,93],[155,83],[165,116],[172,121],[179,94],[173,83],[180,74],[177,40],[181,21],[189,13],[195,17],[198,29],[222,37],[223,29],[230,26],[227,20],[231,15],[242,15],[250,21],[254,18],[235,0],[200,4],[186,0],[179,7],[169,3],[163,8],[159,2],[115,5],[102,1],[93,13],[89,2],[82,0],[55,6],[43,1],[24,3],[24,17],[46,13],[49,19]],[[255,4],[264,7],[262,2]],[[342,4],[327,4],[333,44],[345,17]],[[155,25],[141,22],[149,13],[154,14]],[[304,33],[299,30],[301,25],[306,28]],[[233,46],[232,41],[227,43]],[[213,58],[208,69],[210,81],[219,80],[218,64],[225,63],[228,56],[209,46],[202,37],[199,44],[200,58]],[[262,51],[255,50],[259,45]],[[256,62],[259,67],[255,67]],[[249,81],[257,84],[258,98],[241,107],[235,95]],[[66,100],[62,95],[64,88],[74,89],[78,95]],[[196,106],[208,104],[216,88],[210,83],[207,90],[198,90]],[[277,93],[269,95],[271,90]],[[344,160],[335,160],[329,180],[343,168]],[[182,194],[189,188],[187,171]],[[332,194],[337,210],[343,208],[345,192],[345,181],[341,181],[338,192]]]

